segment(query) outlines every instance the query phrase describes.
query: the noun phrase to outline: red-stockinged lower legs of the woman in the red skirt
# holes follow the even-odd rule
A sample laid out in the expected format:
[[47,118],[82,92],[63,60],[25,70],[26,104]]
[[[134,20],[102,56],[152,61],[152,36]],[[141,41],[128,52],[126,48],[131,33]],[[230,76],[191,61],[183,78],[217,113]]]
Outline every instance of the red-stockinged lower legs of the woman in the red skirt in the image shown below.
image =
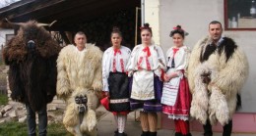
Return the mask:
[[189,133],[189,121],[174,119],[175,132],[187,135]]

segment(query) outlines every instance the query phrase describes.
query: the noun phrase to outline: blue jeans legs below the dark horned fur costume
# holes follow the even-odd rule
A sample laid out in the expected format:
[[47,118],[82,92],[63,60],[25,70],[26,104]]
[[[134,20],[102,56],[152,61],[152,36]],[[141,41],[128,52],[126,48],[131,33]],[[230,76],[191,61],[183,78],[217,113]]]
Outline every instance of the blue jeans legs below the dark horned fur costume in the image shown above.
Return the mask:
[[[27,122],[29,127],[29,136],[35,136],[35,128],[36,128],[36,122],[35,122],[35,113],[32,111],[32,108],[29,104],[26,105],[27,109]],[[46,105],[41,108],[38,113],[38,129],[39,129],[39,136],[46,136],[47,134],[47,111],[46,111]]]

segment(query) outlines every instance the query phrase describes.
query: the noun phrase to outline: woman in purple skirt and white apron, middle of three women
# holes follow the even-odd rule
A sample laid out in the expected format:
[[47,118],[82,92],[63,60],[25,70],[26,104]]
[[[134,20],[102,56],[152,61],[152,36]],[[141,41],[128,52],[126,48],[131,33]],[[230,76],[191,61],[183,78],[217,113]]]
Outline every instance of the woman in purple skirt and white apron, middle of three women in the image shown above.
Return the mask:
[[141,27],[142,44],[135,46],[129,61],[131,109],[141,110],[141,136],[157,136],[158,114],[161,112],[161,71],[165,59],[160,46],[152,44],[152,29],[149,23]]

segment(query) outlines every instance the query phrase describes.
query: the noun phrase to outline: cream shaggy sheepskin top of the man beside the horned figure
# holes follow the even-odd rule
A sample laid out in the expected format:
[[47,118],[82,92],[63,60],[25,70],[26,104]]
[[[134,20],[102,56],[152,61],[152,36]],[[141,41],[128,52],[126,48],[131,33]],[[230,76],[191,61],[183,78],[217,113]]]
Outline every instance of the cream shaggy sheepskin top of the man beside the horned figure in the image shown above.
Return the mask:
[[102,52],[87,44],[84,51],[74,45],[64,47],[57,60],[57,95],[67,99],[75,91],[102,89]]

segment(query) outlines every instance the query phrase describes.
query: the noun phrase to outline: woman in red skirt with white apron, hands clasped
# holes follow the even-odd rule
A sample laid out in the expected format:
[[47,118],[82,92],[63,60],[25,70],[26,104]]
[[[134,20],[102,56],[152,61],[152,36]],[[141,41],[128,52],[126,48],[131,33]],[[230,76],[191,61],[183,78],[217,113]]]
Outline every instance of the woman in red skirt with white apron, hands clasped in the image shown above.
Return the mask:
[[174,119],[175,136],[191,136],[188,121],[191,95],[184,75],[189,57],[189,49],[183,45],[186,34],[180,25],[170,32],[174,46],[166,52],[167,71],[163,76],[162,113]]

